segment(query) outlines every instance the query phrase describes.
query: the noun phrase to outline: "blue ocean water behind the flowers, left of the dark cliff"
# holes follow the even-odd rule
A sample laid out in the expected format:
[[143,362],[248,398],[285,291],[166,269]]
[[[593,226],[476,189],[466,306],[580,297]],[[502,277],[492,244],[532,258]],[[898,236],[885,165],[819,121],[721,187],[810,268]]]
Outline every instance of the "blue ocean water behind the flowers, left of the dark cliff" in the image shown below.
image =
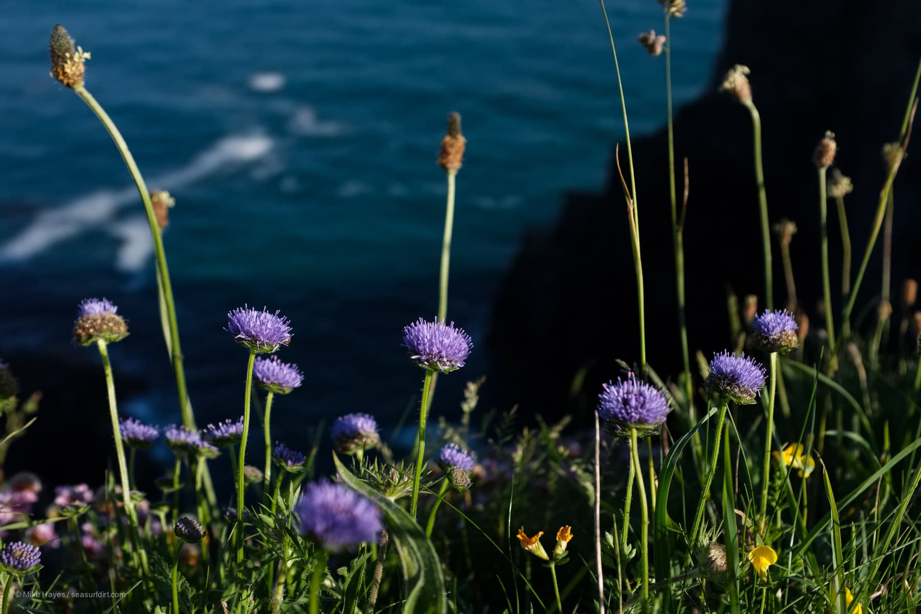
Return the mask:
[[[726,4],[696,0],[673,21],[676,105],[707,83]],[[660,6],[608,10],[632,133],[655,130],[663,58],[635,38],[661,29]],[[450,110],[469,143],[449,316],[474,340],[523,233],[550,224],[565,191],[598,189],[623,138],[595,0],[13,0],[3,13],[0,353],[14,366],[25,353],[93,360],[70,327],[81,298],[105,295],[133,331],[112,351],[116,370],[146,382],[122,407],[159,423],[178,406],[149,231],[108,134],[48,75],[54,24],[92,53],[87,88],[148,186],[177,200],[165,241],[200,422],[239,415],[246,353],[226,314],[265,305],[292,320],[280,355],[307,375],[274,411],[291,441],[319,418],[394,422],[413,402],[422,374],[401,329],[437,307],[434,162]],[[451,415],[465,379],[487,371],[474,350],[439,384],[437,411]]]

